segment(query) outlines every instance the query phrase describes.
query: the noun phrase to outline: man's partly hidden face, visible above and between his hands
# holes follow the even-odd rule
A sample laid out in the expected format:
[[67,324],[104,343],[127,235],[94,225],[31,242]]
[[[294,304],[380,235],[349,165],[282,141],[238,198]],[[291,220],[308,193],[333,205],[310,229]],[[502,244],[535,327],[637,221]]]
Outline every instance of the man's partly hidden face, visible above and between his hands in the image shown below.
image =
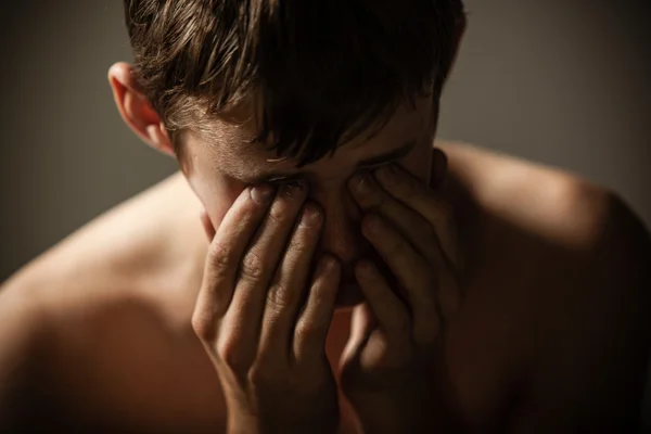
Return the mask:
[[[214,122],[213,140],[196,133],[183,137],[183,173],[206,208],[215,229],[242,190],[259,180],[280,184],[282,177],[305,179],[309,200],[326,215],[320,252],[330,252],[343,265],[340,305],[359,302],[353,267],[361,257],[378,256],[360,231],[361,213],[352,200],[346,181],[352,175],[388,163],[398,163],[424,182],[430,181],[432,144],[436,129],[437,104],[422,98],[405,103],[378,130],[371,127],[345,143],[332,157],[296,168],[296,161],[278,159],[259,143],[247,143],[257,128],[253,122]],[[240,115],[238,115],[241,118]],[[382,264],[379,264],[382,269]]]

